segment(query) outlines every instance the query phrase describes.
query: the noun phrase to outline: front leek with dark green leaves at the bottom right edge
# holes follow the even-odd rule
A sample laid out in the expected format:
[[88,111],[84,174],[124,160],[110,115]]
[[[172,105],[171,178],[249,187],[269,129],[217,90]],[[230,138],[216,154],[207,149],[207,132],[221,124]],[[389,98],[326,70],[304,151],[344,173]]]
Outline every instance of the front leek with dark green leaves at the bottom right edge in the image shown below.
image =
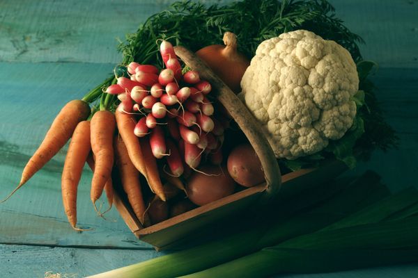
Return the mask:
[[183,278],[269,277],[418,261],[418,217],[328,229]]

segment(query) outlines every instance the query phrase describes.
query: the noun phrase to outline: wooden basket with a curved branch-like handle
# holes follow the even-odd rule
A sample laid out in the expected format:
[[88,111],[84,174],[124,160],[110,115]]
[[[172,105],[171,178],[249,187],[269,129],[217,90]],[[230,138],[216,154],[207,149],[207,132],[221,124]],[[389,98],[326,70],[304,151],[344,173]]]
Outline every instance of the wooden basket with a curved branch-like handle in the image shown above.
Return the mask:
[[248,206],[286,199],[310,186],[316,186],[346,170],[338,161],[331,161],[323,167],[303,169],[281,176],[279,165],[268,140],[258,129],[258,124],[238,97],[192,52],[176,47],[176,54],[183,62],[197,70],[202,79],[210,82],[217,93],[217,100],[226,108],[240,129],[245,133],[256,150],[265,174],[265,183],[247,188],[210,204],[199,206],[163,222],[143,227],[136,218],[123,194],[116,191],[115,206],[127,226],[137,238],[150,243],[157,250],[176,248],[184,245],[193,234],[199,234],[214,224],[235,217]]

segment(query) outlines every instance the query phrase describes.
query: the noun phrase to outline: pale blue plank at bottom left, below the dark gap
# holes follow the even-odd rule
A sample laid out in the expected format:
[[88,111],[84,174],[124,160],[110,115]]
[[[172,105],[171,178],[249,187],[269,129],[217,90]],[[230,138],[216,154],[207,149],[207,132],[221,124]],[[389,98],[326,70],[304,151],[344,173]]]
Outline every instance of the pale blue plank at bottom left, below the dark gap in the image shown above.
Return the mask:
[[81,278],[162,254],[154,250],[0,245],[0,273],[1,277],[43,278],[49,272],[59,273],[61,277]]

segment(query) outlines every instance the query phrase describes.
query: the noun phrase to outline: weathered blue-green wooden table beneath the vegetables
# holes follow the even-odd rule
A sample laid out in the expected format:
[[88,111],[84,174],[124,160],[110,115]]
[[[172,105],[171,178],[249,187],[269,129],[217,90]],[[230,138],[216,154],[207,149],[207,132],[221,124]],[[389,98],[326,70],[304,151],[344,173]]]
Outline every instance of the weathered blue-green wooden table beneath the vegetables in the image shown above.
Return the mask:
[[[373,76],[378,99],[401,138],[398,149],[376,152],[347,174],[371,169],[391,190],[417,186],[418,1],[331,2],[337,16],[366,41],[364,58],[380,65]],[[170,3],[0,1],[0,199],[17,185],[61,106],[81,98],[121,61],[116,38],[134,32]],[[0,205],[0,277],[84,277],[164,254],[137,240],[116,210],[106,220],[96,216],[87,168],[79,186],[78,217],[93,230],[70,228],[61,202],[65,150]],[[418,265],[281,277],[418,277]]]

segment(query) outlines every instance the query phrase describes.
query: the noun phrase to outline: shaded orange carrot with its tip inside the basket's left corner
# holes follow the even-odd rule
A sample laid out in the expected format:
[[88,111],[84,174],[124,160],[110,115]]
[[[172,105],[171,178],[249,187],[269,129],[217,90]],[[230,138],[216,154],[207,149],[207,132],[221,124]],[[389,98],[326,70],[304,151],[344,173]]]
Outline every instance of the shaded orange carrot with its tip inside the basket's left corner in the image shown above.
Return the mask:
[[127,200],[132,206],[132,210],[139,221],[144,224],[144,214],[146,206],[144,197],[141,192],[141,183],[139,181],[139,171],[133,165],[127,154],[126,145],[121,137],[114,140],[116,165],[118,167],[119,175],[123,190],[127,195]]

